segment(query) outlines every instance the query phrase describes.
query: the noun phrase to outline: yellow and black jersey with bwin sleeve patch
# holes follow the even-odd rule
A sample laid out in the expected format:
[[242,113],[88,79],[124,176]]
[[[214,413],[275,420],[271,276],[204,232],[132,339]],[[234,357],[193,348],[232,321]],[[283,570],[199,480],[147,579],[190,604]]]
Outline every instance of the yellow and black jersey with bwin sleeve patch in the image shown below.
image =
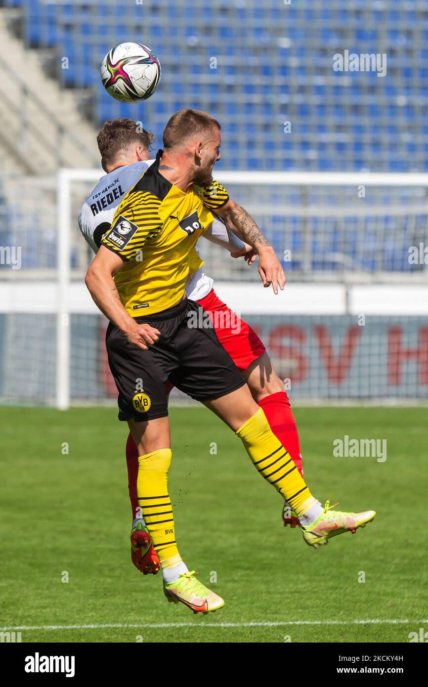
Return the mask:
[[101,241],[125,261],[114,280],[133,317],[160,313],[183,298],[189,272],[203,265],[194,245],[213,221],[211,210],[229,200],[217,181],[182,191],[159,172],[161,155],[124,196]]

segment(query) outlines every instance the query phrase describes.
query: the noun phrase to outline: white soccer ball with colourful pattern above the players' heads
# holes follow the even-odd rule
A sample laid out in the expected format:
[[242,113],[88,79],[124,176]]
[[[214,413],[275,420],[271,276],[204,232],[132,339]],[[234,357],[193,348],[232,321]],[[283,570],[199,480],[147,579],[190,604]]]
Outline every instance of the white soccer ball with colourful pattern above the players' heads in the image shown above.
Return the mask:
[[147,100],[155,93],[160,78],[159,60],[141,43],[120,43],[102,60],[102,85],[120,102]]

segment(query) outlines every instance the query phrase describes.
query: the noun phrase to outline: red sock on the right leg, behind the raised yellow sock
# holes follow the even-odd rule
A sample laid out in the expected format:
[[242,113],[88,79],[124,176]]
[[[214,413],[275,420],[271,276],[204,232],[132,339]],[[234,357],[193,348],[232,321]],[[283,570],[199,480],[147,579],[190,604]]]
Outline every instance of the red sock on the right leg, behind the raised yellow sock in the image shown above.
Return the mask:
[[270,396],[264,396],[261,401],[258,401],[258,405],[263,409],[275,437],[280,440],[284,449],[289,452],[297,470],[303,477],[299,433],[293,411],[291,410],[289,397],[284,391],[278,392],[278,394],[270,394]]

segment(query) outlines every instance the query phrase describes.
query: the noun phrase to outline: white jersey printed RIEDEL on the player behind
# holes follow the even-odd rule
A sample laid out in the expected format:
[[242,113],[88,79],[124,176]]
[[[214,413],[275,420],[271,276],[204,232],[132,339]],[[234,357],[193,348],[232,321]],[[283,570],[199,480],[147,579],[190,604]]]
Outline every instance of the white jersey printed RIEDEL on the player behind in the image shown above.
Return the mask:
[[[146,160],[133,165],[118,167],[101,177],[91,194],[87,197],[79,213],[78,223],[82,236],[96,253],[100,247],[103,234],[110,229],[118,205],[128,191],[137,183],[142,174],[155,162]],[[228,232],[223,223],[214,220],[205,232],[205,238],[227,247],[229,251],[238,251],[243,247],[242,241]],[[199,250],[196,248],[199,256]],[[190,300],[200,300],[210,293],[214,280],[205,274],[203,267],[189,275],[185,291]]]

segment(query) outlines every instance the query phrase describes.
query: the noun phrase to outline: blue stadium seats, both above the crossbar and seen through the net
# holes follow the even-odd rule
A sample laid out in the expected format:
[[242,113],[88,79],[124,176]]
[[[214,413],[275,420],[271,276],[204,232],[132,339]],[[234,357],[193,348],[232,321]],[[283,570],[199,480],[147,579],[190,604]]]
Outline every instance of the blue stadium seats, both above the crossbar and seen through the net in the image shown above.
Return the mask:
[[[192,106],[222,123],[219,170],[428,170],[426,1],[8,0],[3,5],[9,8],[10,29],[35,49],[65,96],[73,93],[93,135],[106,119],[132,116],[160,144],[169,115]],[[102,56],[126,40],[153,47],[163,67],[155,98],[133,106],[113,100],[99,76]],[[333,55],[344,49],[386,53],[388,78],[333,71]],[[43,100],[43,84],[37,92]],[[79,135],[76,126],[64,127],[70,128]],[[77,146],[74,150],[76,155],[66,156],[67,166],[88,166],[78,159]],[[241,191],[246,200],[248,190]],[[247,200],[275,249],[291,250],[287,270],[304,278],[345,268],[420,271],[402,247],[427,236],[425,189],[397,190],[393,198],[390,191],[376,190],[364,201],[363,218],[343,217],[350,203],[356,205],[349,190],[342,202],[328,189],[315,198],[302,188],[269,190],[257,205],[251,196]],[[339,212],[306,221],[289,212],[284,229],[284,209],[293,205],[339,205]],[[412,213],[406,212],[411,206]],[[313,257],[304,262],[308,248]],[[221,277],[231,278],[218,267]],[[240,269],[235,277],[256,275]]]

